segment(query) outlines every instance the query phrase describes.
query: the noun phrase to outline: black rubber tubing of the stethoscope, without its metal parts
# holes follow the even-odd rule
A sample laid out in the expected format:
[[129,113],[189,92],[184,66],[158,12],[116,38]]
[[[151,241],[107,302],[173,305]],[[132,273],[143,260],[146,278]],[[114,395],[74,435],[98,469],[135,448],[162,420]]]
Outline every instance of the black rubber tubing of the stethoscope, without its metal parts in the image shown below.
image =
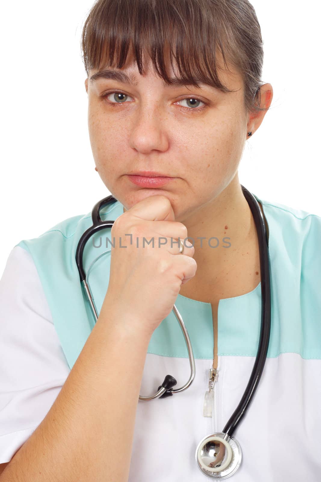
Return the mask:
[[[259,335],[259,343],[257,348],[257,356],[253,365],[253,369],[245,388],[241,401],[231,415],[227,424],[223,428],[223,432],[231,437],[244,417],[246,410],[253,399],[261,378],[264,364],[267,358],[270,326],[271,326],[271,293],[270,293],[270,258],[269,258],[269,241],[267,237],[264,217],[258,205],[256,198],[244,186],[241,185],[244,197],[249,204],[257,229],[259,258],[260,258],[260,275],[261,275],[261,328]],[[92,211],[92,226],[88,228],[79,239],[76,250],[76,263],[79,272],[80,282],[86,280],[86,273],[83,268],[82,256],[85,245],[92,235],[101,229],[111,228],[114,221],[103,221],[100,217],[100,210],[108,205],[116,202],[116,198],[112,195],[98,201]]]

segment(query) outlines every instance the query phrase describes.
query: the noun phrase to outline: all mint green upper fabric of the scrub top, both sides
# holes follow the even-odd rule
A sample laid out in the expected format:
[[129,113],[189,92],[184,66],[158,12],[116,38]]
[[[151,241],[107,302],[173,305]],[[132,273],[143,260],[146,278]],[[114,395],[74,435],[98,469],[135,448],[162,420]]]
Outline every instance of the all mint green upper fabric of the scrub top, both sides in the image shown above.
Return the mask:
[[[321,358],[321,217],[279,203],[261,202],[269,227],[271,268],[271,335],[268,357],[299,353]],[[117,201],[101,210],[103,220],[123,214]],[[53,323],[70,369],[94,326],[75,260],[77,243],[91,226],[91,214],[68,218],[38,238],[17,245],[31,254],[47,298]],[[94,236],[84,252],[84,268],[106,251],[110,228]],[[112,241],[112,240],[111,240]],[[107,249],[110,249],[110,244]],[[100,311],[109,281],[110,252],[92,267],[89,283]],[[143,290],[142,290],[143,295]],[[195,358],[213,359],[210,303],[178,295],[176,308],[188,329]],[[218,305],[218,355],[255,356],[261,321],[261,283],[245,295],[221,299]],[[154,331],[149,353],[187,358],[187,348],[173,312]]]

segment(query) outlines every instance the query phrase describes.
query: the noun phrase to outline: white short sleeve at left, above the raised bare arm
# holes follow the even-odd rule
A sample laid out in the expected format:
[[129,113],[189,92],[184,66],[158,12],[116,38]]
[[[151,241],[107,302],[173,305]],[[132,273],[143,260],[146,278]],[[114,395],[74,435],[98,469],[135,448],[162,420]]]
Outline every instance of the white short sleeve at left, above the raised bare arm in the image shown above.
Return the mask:
[[0,279],[0,464],[45,418],[69,373],[32,256],[15,246]]

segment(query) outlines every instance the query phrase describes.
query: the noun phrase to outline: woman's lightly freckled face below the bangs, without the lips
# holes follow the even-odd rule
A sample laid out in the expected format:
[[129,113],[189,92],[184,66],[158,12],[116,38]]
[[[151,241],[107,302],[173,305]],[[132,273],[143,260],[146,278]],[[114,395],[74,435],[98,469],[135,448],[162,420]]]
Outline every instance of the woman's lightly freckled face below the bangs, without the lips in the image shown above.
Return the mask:
[[[236,92],[223,93],[205,84],[166,87],[145,62],[144,76],[130,55],[117,69],[134,75],[136,85],[110,78],[91,82],[97,70],[90,70],[85,81],[90,145],[104,185],[127,209],[147,196],[163,194],[175,219],[182,221],[230,185],[247,132],[253,134],[264,113],[247,118],[243,81],[233,70],[221,72],[220,80]],[[169,77],[180,77],[169,61],[167,66]],[[160,187],[141,187],[128,176],[137,171],[172,179]]]

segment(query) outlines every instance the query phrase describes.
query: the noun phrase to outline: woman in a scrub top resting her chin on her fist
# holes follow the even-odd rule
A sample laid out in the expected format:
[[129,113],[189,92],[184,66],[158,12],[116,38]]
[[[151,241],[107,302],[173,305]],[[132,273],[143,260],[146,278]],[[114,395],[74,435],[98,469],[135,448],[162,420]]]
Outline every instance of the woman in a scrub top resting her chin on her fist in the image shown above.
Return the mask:
[[[247,0],[98,0],[82,50],[95,169],[117,200],[101,211],[113,228],[84,250],[99,317],[75,260],[90,212],[13,248],[0,290],[0,481],[202,481],[195,450],[241,400],[259,343],[262,267],[238,166],[272,100],[260,27]],[[255,197],[270,345],[230,476],[317,481],[321,218]],[[174,303],[196,375],[139,400],[167,374],[188,380]],[[220,469],[226,454],[214,452],[207,467]]]

